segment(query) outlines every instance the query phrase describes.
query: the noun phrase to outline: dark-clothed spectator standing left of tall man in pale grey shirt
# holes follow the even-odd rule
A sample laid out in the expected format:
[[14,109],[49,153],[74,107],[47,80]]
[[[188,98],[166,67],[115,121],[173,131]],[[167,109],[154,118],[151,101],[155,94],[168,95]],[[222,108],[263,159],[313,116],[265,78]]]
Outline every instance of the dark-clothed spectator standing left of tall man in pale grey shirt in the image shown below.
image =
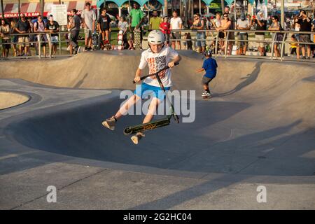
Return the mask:
[[69,38],[69,43],[70,43],[70,55],[72,55],[73,48],[74,48],[74,55],[78,53],[79,46],[78,46],[78,34],[80,31],[80,18],[78,15],[76,15],[77,10],[76,8],[73,8],[71,10],[71,15],[72,15],[72,20],[71,20],[71,25],[69,26],[70,29],[70,38]]

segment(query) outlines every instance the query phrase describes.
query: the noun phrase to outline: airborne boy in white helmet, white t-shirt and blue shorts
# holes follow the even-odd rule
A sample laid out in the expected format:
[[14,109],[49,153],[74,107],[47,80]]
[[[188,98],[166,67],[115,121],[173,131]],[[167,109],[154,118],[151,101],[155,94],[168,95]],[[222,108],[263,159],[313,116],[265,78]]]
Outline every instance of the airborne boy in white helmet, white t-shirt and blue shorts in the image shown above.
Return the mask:
[[[160,30],[153,30],[148,34],[148,46],[149,48],[141,53],[140,64],[134,77],[134,83],[141,85],[137,85],[132,97],[127,99],[114,116],[107,118],[102,123],[104,127],[110,130],[115,130],[117,121],[122,118],[123,115],[126,115],[134,104],[141,99],[146,99],[148,95],[151,95],[153,99],[148,107],[148,112],[146,113],[143,124],[151,122],[156,109],[158,109],[158,106],[166,97],[162,85],[165,90],[170,90],[172,87],[171,70],[160,70],[164,69],[166,66],[169,66],[169,68],[174,67],[175,63],[181,60],[181,56],[174,49],[165,45],[165,35]],[[148,66],[150,74],[160,71],[158,76],[160,77],[162,85],[160,85],[154,75],[145,78],[144,82],[141,83],[141,75],[146,66]],[[138,141],[143,137],[143,132],[137,132],[131,139],[134,144],[138,144]]]

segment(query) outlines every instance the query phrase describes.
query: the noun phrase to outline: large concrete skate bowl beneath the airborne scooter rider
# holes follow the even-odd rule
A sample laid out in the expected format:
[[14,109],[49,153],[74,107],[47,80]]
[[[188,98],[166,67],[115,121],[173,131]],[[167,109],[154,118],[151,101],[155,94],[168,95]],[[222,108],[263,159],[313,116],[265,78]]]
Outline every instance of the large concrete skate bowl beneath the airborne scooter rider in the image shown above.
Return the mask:
[[[140,55],[116,54],[89,52],[52,62],[21,62],[38,63],[46,70],[10,75],[9,65],[1,78],[23,77],[59,87],[133,89]],[[185,51],[181,55],[181,64],[172,71],[174,89],[196,90],[193,123],[173,122],[146,132],[135,146],[123,129],[141,123],[143,116],[126,116],[115,132],[101,125],[122,102],[120,91],[113,90],[106,96],[33,111],[10,123],[6,134],[41,151],[127,165],[251,175],[314,174],[314,65],[218,59],[218,76],[211,83],[214,97],[205,101],[199,97],[202,75],[195,73],[201,57]]]

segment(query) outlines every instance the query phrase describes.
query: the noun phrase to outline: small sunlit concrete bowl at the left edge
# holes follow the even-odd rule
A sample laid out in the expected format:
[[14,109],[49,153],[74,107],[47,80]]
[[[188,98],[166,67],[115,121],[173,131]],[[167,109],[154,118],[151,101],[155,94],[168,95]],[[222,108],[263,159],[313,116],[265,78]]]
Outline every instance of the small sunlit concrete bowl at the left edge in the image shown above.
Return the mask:
[[0,111],[29,101],[29,96],[17,92],[0,91]]

